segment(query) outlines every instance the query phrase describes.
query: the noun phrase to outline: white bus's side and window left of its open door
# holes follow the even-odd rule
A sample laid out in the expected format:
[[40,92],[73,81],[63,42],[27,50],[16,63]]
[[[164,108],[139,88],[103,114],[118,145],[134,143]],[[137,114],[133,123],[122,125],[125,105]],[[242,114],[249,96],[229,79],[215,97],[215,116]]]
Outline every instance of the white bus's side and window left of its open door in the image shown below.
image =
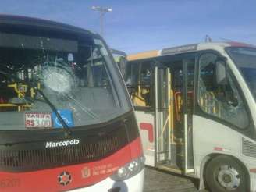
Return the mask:
[[155,166],[155,110],[151,62],[129,62],[126,69],[124,79],[133,102],[137,123],[140,127],[140,138],[144,156],[146,157],[145,164]]

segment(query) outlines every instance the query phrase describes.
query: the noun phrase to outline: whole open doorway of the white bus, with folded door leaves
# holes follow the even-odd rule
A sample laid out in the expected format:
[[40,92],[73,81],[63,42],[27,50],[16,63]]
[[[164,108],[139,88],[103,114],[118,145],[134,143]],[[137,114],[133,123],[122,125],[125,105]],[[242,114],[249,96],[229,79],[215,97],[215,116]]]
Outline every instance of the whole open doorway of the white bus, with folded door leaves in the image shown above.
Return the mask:
[[[190,60],[183,59],[182,63],[180,69],[155,66],[155,166],[187,174],[194,172],[191,105],[194,86],[188,84],[191,78],[187,78],[188,74],[194,76],[194,64],[191,68],[188,66]],[[177,76],[180,78],[180,91],[172,85]],[[180,123],[176,120],[179,107]]]

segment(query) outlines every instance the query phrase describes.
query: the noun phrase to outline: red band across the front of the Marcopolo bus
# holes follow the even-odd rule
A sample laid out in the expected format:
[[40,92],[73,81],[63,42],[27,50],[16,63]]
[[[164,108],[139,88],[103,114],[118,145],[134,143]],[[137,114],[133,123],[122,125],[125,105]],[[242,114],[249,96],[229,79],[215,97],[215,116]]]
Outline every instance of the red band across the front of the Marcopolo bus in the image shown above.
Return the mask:
[[[133,148],[139,149],[133,150]],[[33,172],[0,172],[0,191],[52,192],[91,186],[105,180],[108,176],[116,173],[119,167],[141,155],[142,149],[138,137],[113,155],[95,162]],[[62,177],[61,181],[59,180],[60,176]],[[67,183],[67,181],[69,182]]]

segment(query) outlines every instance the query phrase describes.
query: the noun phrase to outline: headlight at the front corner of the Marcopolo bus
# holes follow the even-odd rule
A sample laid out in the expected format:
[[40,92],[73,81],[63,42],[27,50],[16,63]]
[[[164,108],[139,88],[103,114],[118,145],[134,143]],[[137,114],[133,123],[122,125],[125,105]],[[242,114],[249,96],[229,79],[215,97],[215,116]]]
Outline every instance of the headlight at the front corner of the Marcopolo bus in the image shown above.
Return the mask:
[[120,167],[116,174],[110,176],[112,180],[127,180],[132,176],[135,176],[142,169],[144,169],[145,158],[144,156],[134,159],[132,162],[127,163],[123,167]]

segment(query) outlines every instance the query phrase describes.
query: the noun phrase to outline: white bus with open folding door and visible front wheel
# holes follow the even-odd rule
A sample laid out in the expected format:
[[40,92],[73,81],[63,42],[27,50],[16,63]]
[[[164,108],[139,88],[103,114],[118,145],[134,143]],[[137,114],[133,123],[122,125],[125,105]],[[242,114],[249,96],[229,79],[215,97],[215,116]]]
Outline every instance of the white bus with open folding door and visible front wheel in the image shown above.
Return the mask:
[[200,178],[200,189],[255,191],[256,47],[188,44],[127,59],[145,164]]

